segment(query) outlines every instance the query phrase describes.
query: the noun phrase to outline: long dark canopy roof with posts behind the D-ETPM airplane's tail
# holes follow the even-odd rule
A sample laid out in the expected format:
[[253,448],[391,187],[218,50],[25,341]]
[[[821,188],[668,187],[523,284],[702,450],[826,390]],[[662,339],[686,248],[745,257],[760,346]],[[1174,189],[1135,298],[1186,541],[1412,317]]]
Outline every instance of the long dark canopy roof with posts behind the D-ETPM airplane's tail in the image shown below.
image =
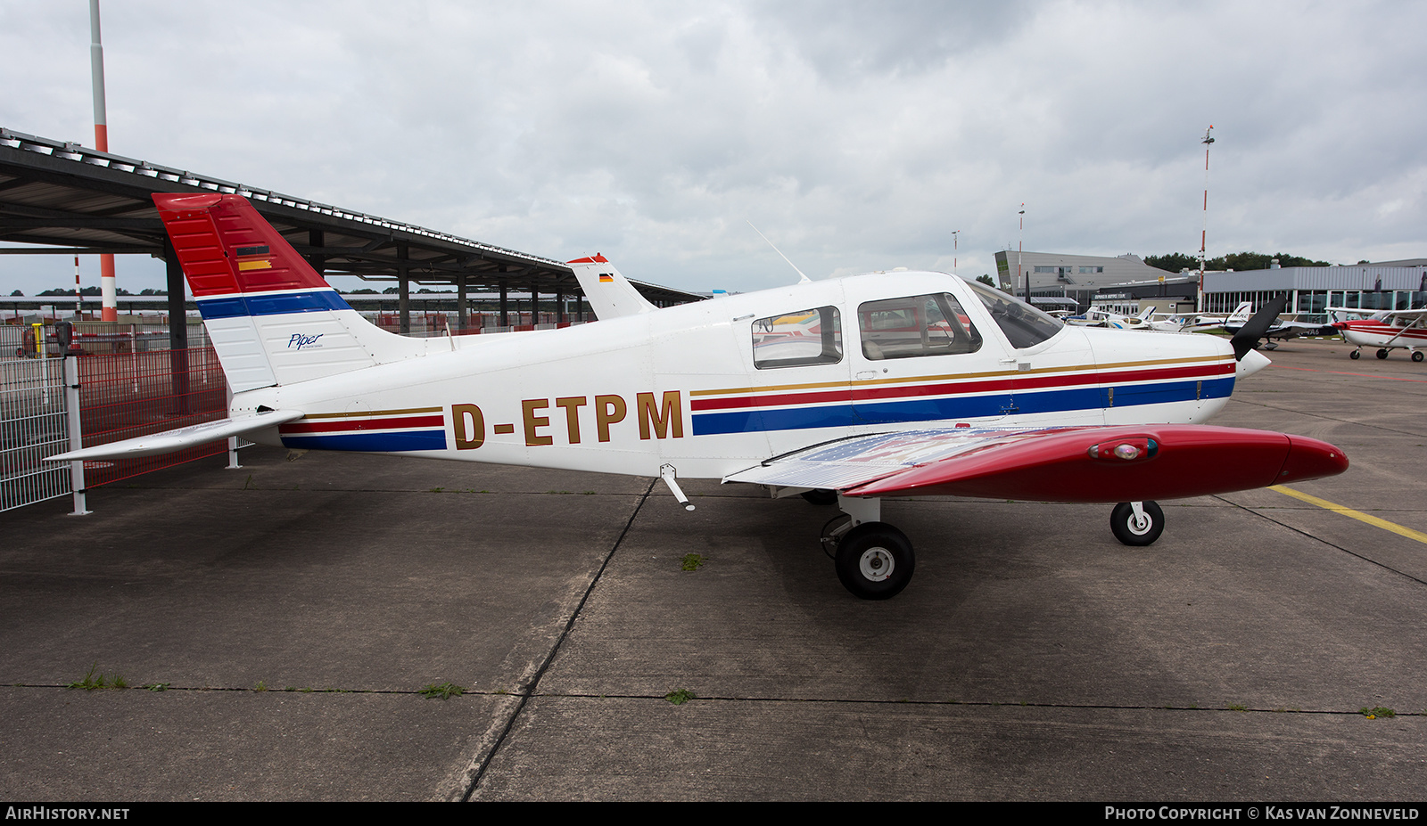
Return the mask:
[[[0,127],[0,241],[30,244],[0,254],[163,258],[171,325],[184,315],[184,280],[150,195],[205,191],[247,197],[318,272],[397,281],[402,332],[410,331],[412,281],[455,287],[461,327],[468,290],[498,292],[502,317],[511,291],[582,295],[574,271],[554,258]],[[705,298],[638,281],[635,287],[659,307]],[[181,327],[176,338],[187,337]]]

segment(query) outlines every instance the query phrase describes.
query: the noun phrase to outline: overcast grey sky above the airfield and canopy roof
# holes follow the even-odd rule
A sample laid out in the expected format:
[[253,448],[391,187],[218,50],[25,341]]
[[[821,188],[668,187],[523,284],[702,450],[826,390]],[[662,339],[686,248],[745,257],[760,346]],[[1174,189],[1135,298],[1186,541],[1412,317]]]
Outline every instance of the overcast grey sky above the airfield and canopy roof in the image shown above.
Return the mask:
[[[1427,3],[103,4],[110,148],[632,278],[1025,248],[1427,255]],[[0,0],[0,126],[93,146],[84,0]],[[0,257],[0,288],[73,261]],[[83,262],[98,282],[97,258]],[[161,287],[120,257],[118,284]],[[360,284],[338,278],[338,288]]]

